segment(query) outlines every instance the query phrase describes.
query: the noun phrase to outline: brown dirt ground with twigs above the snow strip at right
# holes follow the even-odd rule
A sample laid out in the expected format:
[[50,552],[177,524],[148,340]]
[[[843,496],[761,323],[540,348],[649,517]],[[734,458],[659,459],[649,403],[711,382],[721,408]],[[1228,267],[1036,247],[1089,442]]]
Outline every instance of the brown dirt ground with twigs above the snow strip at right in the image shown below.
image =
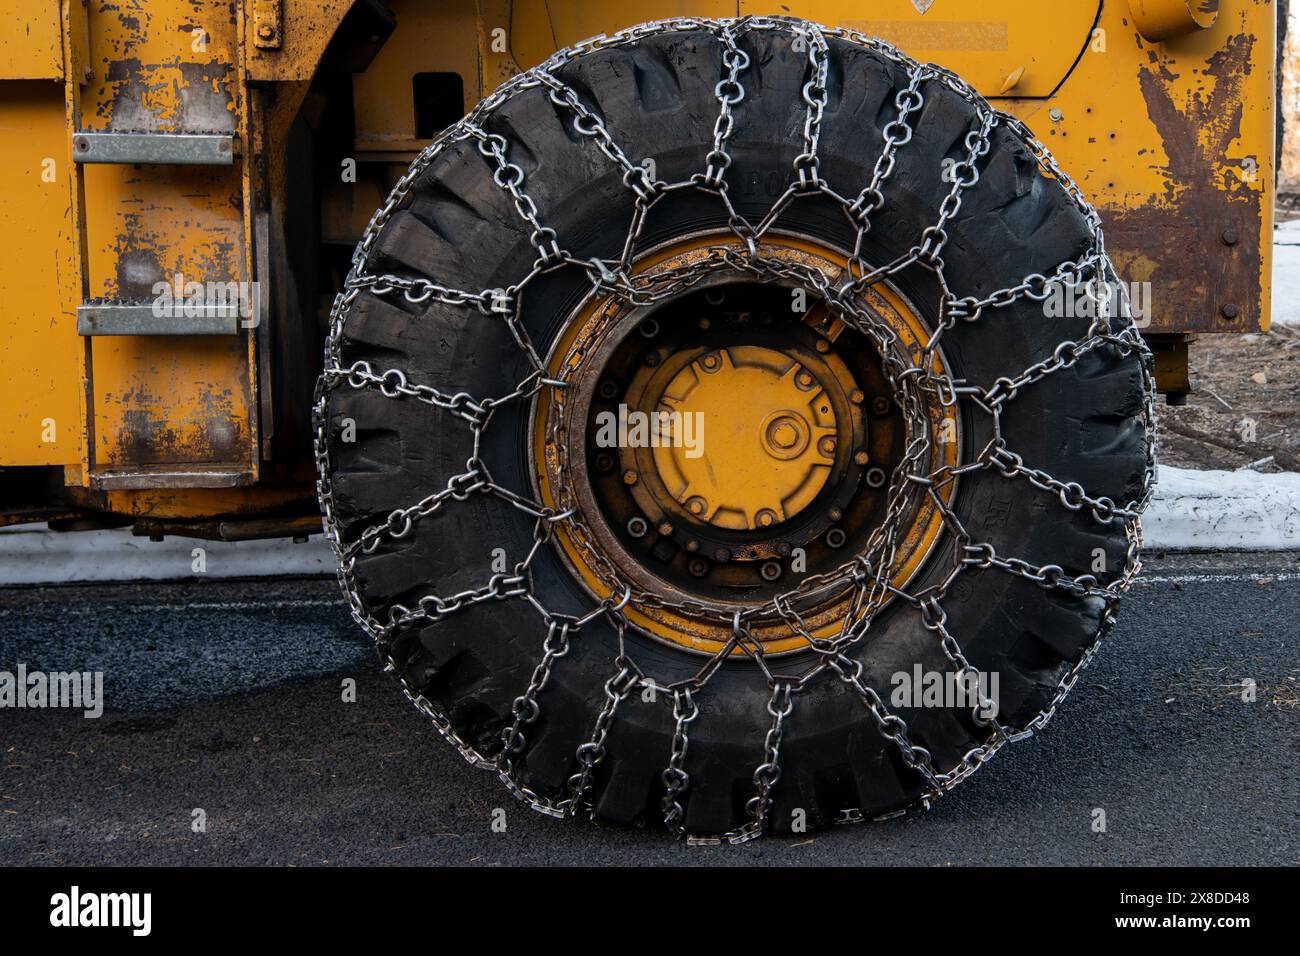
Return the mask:
[[[1279,220],[1300,217],[1287,206]],[[1300,471],[1300,328],[1200,336],[1188,364],[1187,405],[1158,405],[1161,464]]]

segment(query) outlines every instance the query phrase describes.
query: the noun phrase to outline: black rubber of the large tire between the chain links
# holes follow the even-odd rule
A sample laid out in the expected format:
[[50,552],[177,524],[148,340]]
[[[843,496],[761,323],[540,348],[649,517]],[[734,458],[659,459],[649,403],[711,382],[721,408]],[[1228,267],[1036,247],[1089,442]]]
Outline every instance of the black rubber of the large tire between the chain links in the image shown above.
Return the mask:
[[[738,31],[749,55],[745,99],[736,107],[727,172],[737,212],[758,221],[785,189],[801,150],[809,56],[792,49],[792,22]],[[556,75],[603,118],[611,139],[640,161],[653,156],[659,179],[679,182],[699,173],[718,114],[715,86],[723,75],[718,27],[647,33],[633,42],[584,52]],[[827,34],[828,100],[820,126],[820,173],[840,195],[853,196],[867,182],[881,151],[881,130],[894,117],[896,96],[909,83],[904,57]],[[863,251],[870,263],[888,263],[915,245],[933,224],[948,191],[940,170],[961,160],[963,140],[987,104],[963,96],[941,77],[924,85],[924,105],[914,114],[911,142],[898,150],[883,208]],[[524,173],[524,190],[538,219],[555,229],[575,256],[618,259],[636,196],[623,170],[569,120],[540,86],[516,86],[490,112],[473,114],[490,134],[510,143],[511,161]],[[448,134],[454,134],[452,127]],[[1015,127],[994,126],[992,148],[978,161],[979,181],[966,190],[961,212],[948,224],[944,274],[958,295],[984,297],[1015,286],[1034,273],[1052,274],[1079,259],[1093,229],[1062,182],[1043,174],[1035,151]],[[690,190],[679,193],[647,220],[646,247],[702,228],[725,226],[720,203]],[[829,202],[798,200],[784,213],[790,228],[840,248],[852,248],[848,220]],[[783,219],[783,222],[786,221]],[[493,166],[473,140],[451,142],[426,165],[417,164],[411,189],[381,219],[360,259],[360,276],[426,278],[451,289],[503,289],[532,269],[536,250],[529,226],[511,196],[493,182]],[[928,323],[939,320],[935,274],[910,267],[896,285]],[[364,284],[361,284],[364,285]],[[541,354],[559,333],[564,316],[590,286],[578,268],[540,277],[521,304],[521,323]],[[406,382],[434,385],[446,394],[506,395],[530,365],[500,319],[437,298],[415,304],[402,295],[360,289],[341,299],[326,356],[328,368],[365,362],[381,375],[399,369]],[[1121,333],[1127,321],[1114,320]],[[945,333],[954,375],[991,386],[1049,359],[1062,339],[1088,333],[1089,320],[1045,320],[1040,302],[1019,298],[987,308],[974,323]],[[1126,341],[1130,342],[1126,346]],[[1136,343],[1136,345],[1134,345]],[[334,364],[337,363],[337,364]],[[390,377],[390,384],[398,378]],[[369,382],[373,385],[373,382]],[[356,385],[363,385],[356,388]],[[389,397],[382,389],[341,375],[320,390],[322,490],[330,525],[342,548],[367,528],[384,524],[394,509],[445,488],[465,471],[471,432],[452,411],[416,397]],[[1088,350],[1078,362],[1023,385],[1004,406],[1006,446],[1063,483],[1121,506],[1140,507],[1149,484],[1150,377],[1136,338],[1118,337]],[[391,389],[390,389],[391,392]],[[970,398],[963,414],[979,418]],[[481,457],[491,480],[532,498],[525,459],[525,402],[498,407],[484,432]],[[355,441],[344,441],[355,424]],[[987,441],[978,428],[965,433],[963,457]],[[373,553],[348,563],[346,584],[358,596],[358,614],[377,631],[394,606],[416,607],[422,596],[451,596],[482,588],[494,574],[493,549],[508,563],[520,561],[534,537],[533,518],[499,496],[471,493],[415,522],[408,535],[381,535]],[[1030,567],[1058,566],[1062,579],[1095,575],[1108,593],[1079,596],[1040,587],[1005,567],[966,568],[944,597],[948,630],[971,665],[997,671],[998,719],[1006,727],[1040,724],[1078,665],[1110,627],[1119,585],[1135,567],[1132,520],[1100,522],[1091,507],[1069,510],[1058,496],[1024,476],[987,468],[963,476],[954,511],[979,541],[998,555]],[[1102,515],[1104,516],[1104,515]],[[1105,571],[1095,572],[1097,550]],[[952,546],[941,546],[923,570],[916,589],[937,584],[952,568]],[[500,567],[498,564],[498,567]],[[582,615],[592,607],[551,548],[532,567],[532,588],[552,610]],[[546,631],[537,610],[520,597],[468,604],[459,613],[384,633],[381,649],[417,700],[462,745],[490,762],[500,753],[512,705],[528,685]],[[698,658],[663,644],[627,635],[628,653],[660,683],[685,679]],[[560,804],[578,770],[576,750],[586,741],[616,672],[618,635],[606,618],[575,633],[538,695],[540,714],[525,731],[526,747],[512,760],[514,779],[538,803]],[[863,683],[888,698],[889,678],[915,663],[946,671],[952,663],[919,610],[894,601],[872,624],[870,640],[848,650],[863,665]],[[1062,689],[1063,688],[1063,689]],[[749,819],[754,770],[763,762],[771,715],[770,688],[748,662],[728,662],[696,695],[699,717],[690,724],[681,793],[685,830],[736,832]],[[910,739],[924,747],[936,771],[978,766],[1000,743],[962,709],[894,709]],[[644,700],[638,691],[619,705],[608,726],[604,756],[589,793],[594,818],[620,825],[663,822],[664,779],[673,741],[672,700]],[[975,752],[975,757],[970,754]],[[471,754],[473,756],[473,754]],[[837,819],[874,818],[935,796],[933,782],[881,735],[854,688],[823,674],[798,695],[784,726],[779,780],[771,790],[766,827],[788,831]]]

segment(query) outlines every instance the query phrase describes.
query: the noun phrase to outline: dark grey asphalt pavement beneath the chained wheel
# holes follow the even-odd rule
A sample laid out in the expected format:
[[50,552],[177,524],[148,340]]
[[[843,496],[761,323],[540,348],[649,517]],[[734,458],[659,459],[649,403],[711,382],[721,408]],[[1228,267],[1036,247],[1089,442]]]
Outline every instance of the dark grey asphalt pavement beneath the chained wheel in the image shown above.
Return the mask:
[[107,700],[0,709],[0,865],[1300,862],[1300,554],[1145,563],[1043,734],[930,812],[742,847],[516,803],[406,702],[332,580],[0,591],[0,671],[103,671]]

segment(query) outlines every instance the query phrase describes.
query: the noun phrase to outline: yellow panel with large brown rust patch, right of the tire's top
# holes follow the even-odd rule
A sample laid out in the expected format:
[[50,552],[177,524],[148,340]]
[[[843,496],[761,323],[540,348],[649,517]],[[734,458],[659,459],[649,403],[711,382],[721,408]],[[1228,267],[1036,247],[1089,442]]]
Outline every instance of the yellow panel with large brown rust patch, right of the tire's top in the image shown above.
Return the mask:
[[1124,3],[1106,3],[1098,26],[1052,100],[1000,105],[1101,211],[1121,277],[1150,282],[1145,332],[1268,328],[1273,4],[1223,0],[1208,30],[1154,44]]

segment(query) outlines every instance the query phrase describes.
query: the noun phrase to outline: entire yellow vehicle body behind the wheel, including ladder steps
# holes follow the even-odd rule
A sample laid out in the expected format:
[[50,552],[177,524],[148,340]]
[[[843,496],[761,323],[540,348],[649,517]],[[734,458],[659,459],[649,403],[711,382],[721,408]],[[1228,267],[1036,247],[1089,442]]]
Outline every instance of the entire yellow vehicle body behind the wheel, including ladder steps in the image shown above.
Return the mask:
[[[0,522],[318,527],[325,311],[411,159],[559,47],[746,14],[879,35],[1024,120],[1149,284],[1162,390],[1188,388],[1188,336],[1268,326],[1269,0],[14,0]],[[233,307],[187,315],[191,284]]]

